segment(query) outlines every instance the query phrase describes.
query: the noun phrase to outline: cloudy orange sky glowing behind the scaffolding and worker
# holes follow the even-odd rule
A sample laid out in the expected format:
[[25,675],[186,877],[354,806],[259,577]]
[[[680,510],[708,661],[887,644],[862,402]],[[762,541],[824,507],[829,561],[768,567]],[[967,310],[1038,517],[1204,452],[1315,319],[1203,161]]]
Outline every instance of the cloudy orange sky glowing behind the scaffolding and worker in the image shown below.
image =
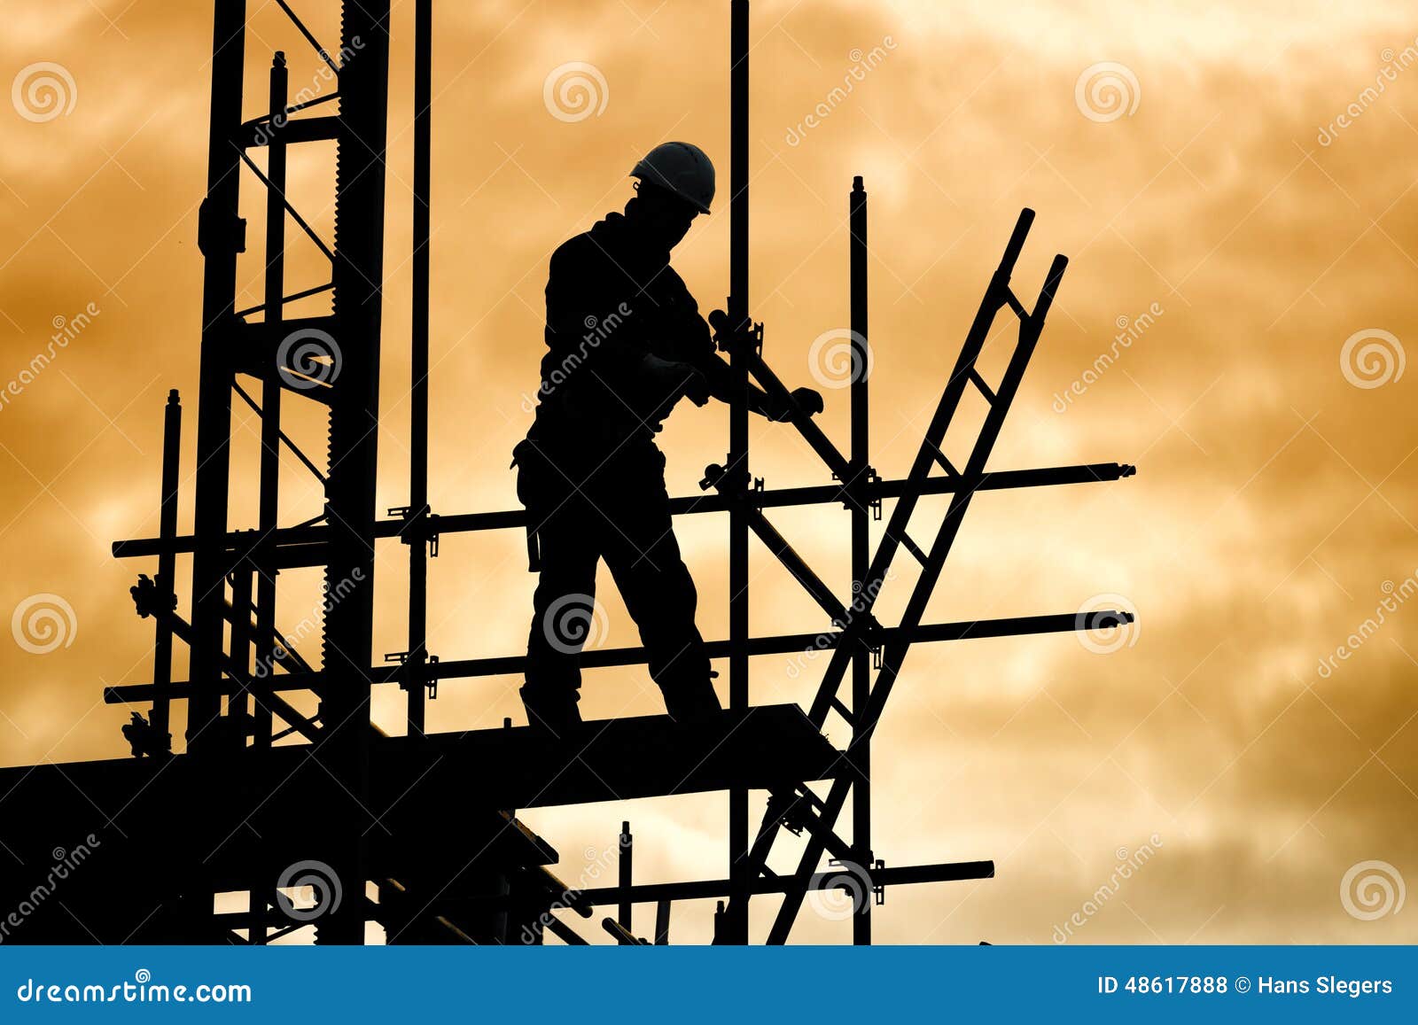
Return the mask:
[[[250,9],[248,81],[285,50],[292,89],[330,88],[275,4]],[[336,4],[296,9],[333,47]],[[23,631],[0,645],[0,757],[119,757],[126,712],[101,705],[101,686],[150,676],[150,624],[126,588],[153,566],[108,553],[113,539],[156,533],[173,387],[191,468],[211,14],[206,3],[7,0],[4,16],[0,69],[16,88],[0,109],[0,612],[50,594],[74,615],[54,651],[35,654],[44,645]],[[435,18],[432,506],[503,509],[536,387],[549,252],[618,208],[635,157],[666,138],[703,146],[727,194],[727,4],[445,3]],[[411,27],[401,0],[381,508],[407,500]],[[1360,862],[1418,879],[1418,603],[1404,604],[1418,588],[1418,427],[1402,371],[1418,327],[1404,298],[1418,279],[1415,37],[1397,1],[754,3],[752,306],[778,374],[811,384],[813,339],[847,325],[847,193],[864,174],[873,461],[903,474],[1029,206],[1020,292],[1037,293],[1055,252],[1072,262],[991,465],[1139,466],[1117,483],[974,502],[927,621],[1072,612],[1109,595],[1137,625],[1109,654],[1071,635],[912,651],[876,734],[876,853],[889,865],[994,858],[998,878],[892,890],[881,941],[1051,943],[1144,844],[1150,861],[1081,914],[1071,941],[1415,939],[1411,914],[1364,920],[1341,900]],[[64,74],[31,67],[41,62]],[[569,62],[600,75],[590,116],[545,99]],[[1102,62],[1122,94],[1089,89],[1085,72]],[[854,67],[851,94],[834,98]],[[62,109],[24,89],[45,74]],[[262,91],[250,91],[248,115]],[[820,103],[827,115],[801,130]],[[329,238],[325,156],[292,162],[292,197]],[[675,254],[703,309],[727,286],[720,206]],[[294,230],[291,244],[292,288],[322,284],[318,251]],[[259,302],[259,251],[244,257],[238,303]],[[31,374],[54,325],[85,312]],[[1003,353],[991,345],[994,373]],[[847,393],[827,397],[824,428],[845,447]],[[254,421],[238,420],[244,471]],[[318,449],[313,431],[303,437]],[[693,491],[726,439],[722,407],[678,411],[662,438],[671,491]],[[770,486],[827,482],[791,428],[754,421],[753,445]],[[318,512],[302,474],[292,461],[289,522]],[[937,513],[923,503],[920,522]],[[189,516],[190,491],[184,527]],[[845,515],[773,519],[824,577],[847,577]],[[254,522],[242,496],[234,522]],[[726,520],[693,517],[679,534],[700,628],[723,637]],[[404,646],[403,550],[381,556],[376,659]],[[899,570],[882,595],[888,620],[910,584]],[[756,629],[827,625],[771,556],[756,550],[753,573]],[[315,578],[291,577],[288,624],[315,604]],[[604,642],[634,644],[603,583]],[[519,533],[445,537],[431,651],[515,654],[532,586]],[[756,659],[756,702],[810,698],[815,671],[794,679],[788,662]],[[520,722],[516,685],[448,682],[430,726]],[[594,717],[659,707],[640,669],[588,675],[584,695]],[[376,699],[393,732],[398,705],[394,690]],[[830,723],[835,740],[845,733]],[[725,805],[685,797],[525,819],[560,848],[569,882],[623,818],[644,880],[718,878]],[[754,907],[761,933],[771,902]],[[676,909],[675,939],[709,929],[708,906]],[[807,907],[794,937],[848,934]]]

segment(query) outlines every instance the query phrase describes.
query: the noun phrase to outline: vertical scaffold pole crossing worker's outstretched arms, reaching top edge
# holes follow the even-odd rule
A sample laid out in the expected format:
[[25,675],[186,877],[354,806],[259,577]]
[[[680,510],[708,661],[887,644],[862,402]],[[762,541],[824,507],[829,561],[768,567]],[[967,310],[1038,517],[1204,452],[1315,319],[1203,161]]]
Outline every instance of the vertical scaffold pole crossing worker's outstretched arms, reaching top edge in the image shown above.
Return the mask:
[[[733,0],[729,28],[729,323],[743,337],[749,322],[749,0]],[[749,706],[749,360],[729,357],[729,706]],[[733,890],[723,943],[749,941],[749,791],[729,791],[729,879]]]

